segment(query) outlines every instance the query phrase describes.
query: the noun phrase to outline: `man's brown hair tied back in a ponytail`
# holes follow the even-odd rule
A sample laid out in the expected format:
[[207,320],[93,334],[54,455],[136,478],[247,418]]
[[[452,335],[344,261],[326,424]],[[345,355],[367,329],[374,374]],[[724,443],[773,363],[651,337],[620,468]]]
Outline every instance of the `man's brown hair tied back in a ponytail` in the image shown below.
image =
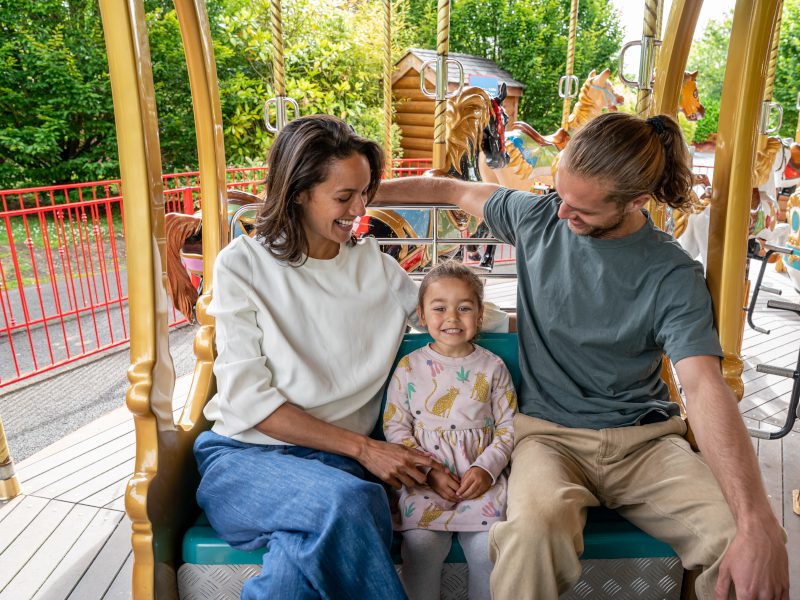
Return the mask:
[[643,195],[672,208],[692,204],[689,150],[677,121],[610,112],[592,119],[573,137],[559,168],[608,185],[608,200],[625,205]]

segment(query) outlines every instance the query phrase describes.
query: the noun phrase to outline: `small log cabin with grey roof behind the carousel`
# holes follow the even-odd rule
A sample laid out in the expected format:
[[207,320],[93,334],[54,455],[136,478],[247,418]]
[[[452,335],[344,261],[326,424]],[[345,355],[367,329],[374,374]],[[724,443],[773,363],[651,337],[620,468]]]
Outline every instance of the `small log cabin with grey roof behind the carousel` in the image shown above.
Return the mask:
[[[524,85],[515,80],[511,75],[498,67],[493,61],[471,54],[451,52],[450,58],[458,60],[464,66],[464,85],[475,81],[487,82],[496,79],[498,85],[505,83],[508,96],[503,102],[509,122],[517,120],[519,98],[522,96]],[[395,64],[392,75],[392,91],[394,92],[396,116],[395,121],[403,132],[403,156],[405,158],[431,158],[433,156],[433,104],[432,98],[423,95],[419,89],[419,71],[423,63],[435,60],[434,50],[421,50],[412,48],[403,58]],[[458,71],[449,68],[448,91],[458,87]],[[434,68],[427,69],[425,73],[427,87],[430,91],[436,89],[436,72]],[[479,85],[479,87],[484,87]],[[485,88],[484,88],[485,89]]]

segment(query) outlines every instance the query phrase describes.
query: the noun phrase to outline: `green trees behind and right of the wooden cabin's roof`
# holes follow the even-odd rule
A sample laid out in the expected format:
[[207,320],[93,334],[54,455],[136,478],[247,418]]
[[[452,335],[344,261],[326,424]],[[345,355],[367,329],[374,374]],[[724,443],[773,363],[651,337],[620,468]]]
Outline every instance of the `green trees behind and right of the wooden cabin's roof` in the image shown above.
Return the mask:
[[[567,62],[569,0],[454,0],[450,51],[495,61],[525,85],[520,119],[543,133],[561,124],[558,80]],[[408,0],[405,42],[436,47],[436,0]],[[622,42],[618,15],[610,2],[581,0],[575,66],[581,83],[592,69],[616,71]]]

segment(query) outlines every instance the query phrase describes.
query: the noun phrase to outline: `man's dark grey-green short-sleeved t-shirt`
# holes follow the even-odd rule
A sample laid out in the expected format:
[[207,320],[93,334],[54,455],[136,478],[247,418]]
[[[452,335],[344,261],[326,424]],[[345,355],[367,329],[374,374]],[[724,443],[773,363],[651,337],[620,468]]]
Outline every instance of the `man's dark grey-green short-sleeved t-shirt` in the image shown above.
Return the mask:
[[500,189],[484,208],[516,248],[520,411],[590,429],[677,415],[662,354],[722,356],[701,265],[649,216],[623,238],[578,236],[559,202]]

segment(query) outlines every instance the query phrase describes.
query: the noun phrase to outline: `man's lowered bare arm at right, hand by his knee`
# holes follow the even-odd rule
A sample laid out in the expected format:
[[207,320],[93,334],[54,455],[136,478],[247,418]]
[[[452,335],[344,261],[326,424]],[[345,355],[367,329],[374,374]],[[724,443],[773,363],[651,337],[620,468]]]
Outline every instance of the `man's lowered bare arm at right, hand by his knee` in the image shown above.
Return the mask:
[[736,398],[715,356],[675,365],[686,392],[686,411],[697,445],[719,482],[736,521],[736,537],[720,566],[716,597],[789,598],[784,533],[767,500],[753,446]]

